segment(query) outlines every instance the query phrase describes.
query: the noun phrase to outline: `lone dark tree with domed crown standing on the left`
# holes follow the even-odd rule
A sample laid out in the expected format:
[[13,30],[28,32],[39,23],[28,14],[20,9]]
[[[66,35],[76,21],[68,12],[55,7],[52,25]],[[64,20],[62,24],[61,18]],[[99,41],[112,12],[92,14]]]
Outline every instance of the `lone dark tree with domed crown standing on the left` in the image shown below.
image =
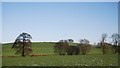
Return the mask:
[[26,55],[30,55],[32,52],[31,49],[31,40],[32,36],[28,33],[22,33],[20,34],[15,42],[13,43],[12,48],[16,50],[16,54],[21,54],[22,57],[25,57]]

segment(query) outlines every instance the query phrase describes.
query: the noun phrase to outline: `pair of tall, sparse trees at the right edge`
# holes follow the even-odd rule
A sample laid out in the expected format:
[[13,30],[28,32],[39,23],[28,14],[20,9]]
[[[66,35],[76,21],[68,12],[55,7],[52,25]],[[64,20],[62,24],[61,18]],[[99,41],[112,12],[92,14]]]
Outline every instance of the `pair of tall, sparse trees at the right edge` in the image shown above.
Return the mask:
[[102,34],[101,35],[101,41],[98,43],[99,47],[102,49],[103,54],[108,53],[109,51],[112,51],[113,53],[120,53],[120,35],[117,33],[114,33],[111,35],[112,44],[105,42],[108,35]]

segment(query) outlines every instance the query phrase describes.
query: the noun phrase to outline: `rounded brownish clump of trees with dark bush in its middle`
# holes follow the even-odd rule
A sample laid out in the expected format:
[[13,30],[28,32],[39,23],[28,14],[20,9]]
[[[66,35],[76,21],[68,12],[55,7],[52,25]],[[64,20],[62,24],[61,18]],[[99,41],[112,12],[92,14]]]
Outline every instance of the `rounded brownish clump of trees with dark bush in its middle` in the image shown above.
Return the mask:
[[[70,39],[69,39],[70,40]],[[86,55],[90,49],[91,46],[89,44],[89,41],[87,39],[81,39],[80,43],[75,45],[69,45],[69,42],[73,41],[67,41],[67,40],[60,40],[59,42],[55,43],[54,46],[54,52],[60,55],[78,55],[83,54]]]

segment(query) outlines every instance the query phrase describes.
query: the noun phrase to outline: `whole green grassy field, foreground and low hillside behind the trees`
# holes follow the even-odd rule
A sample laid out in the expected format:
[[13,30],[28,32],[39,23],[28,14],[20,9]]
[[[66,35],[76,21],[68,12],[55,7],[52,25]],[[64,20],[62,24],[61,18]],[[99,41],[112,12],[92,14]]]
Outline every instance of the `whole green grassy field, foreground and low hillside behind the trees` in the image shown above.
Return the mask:
[[54,54],[53,43],[33,43],[33,54],[48,56],[20,57],[15,55],[11,46],[11,44],[2,45],[2,55],[16,57],[3,57],[2,66],[118,66],[117,54],[103,55],[101,50],[95,47],[92,47],[87,55],[60,56]]

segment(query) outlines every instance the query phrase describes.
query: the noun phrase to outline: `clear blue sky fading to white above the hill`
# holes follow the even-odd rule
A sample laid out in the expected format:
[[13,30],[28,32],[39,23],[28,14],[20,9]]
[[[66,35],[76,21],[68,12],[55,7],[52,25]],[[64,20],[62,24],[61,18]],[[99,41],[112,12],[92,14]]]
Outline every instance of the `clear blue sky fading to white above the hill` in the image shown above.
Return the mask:
[[86,38],[97,43],[103,33],[110,37],[118,32],[118,3],[3,2],[2,43],[14,42],[22,32],[32,41]]

